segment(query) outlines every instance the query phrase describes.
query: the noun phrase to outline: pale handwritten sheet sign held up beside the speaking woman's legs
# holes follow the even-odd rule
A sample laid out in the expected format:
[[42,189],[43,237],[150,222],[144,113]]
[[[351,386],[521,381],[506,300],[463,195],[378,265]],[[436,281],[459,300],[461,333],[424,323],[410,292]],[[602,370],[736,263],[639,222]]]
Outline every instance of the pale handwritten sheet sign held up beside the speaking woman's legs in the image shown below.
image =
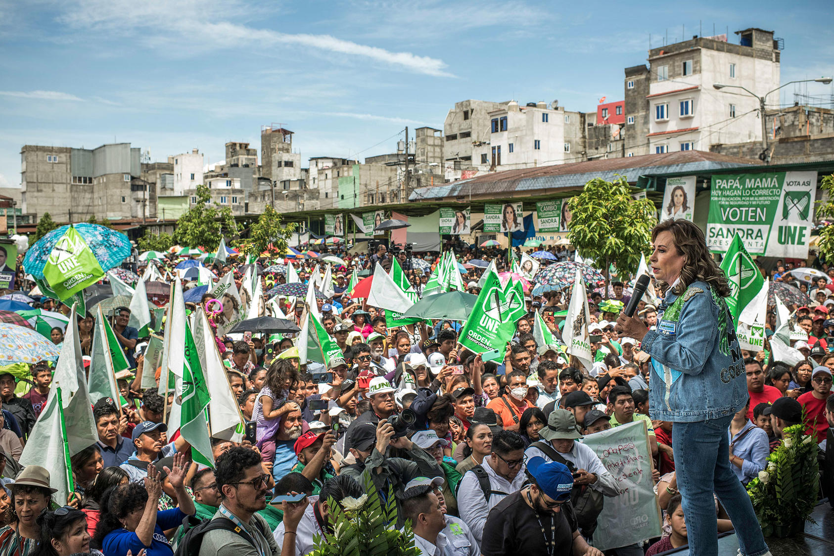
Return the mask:
[[613,475],[620,494],[605,498],[596,518],[594,546],[608,550],[661,536],[661,509],[651,480],[651,451],[645,421],[588,434],[582,440]]

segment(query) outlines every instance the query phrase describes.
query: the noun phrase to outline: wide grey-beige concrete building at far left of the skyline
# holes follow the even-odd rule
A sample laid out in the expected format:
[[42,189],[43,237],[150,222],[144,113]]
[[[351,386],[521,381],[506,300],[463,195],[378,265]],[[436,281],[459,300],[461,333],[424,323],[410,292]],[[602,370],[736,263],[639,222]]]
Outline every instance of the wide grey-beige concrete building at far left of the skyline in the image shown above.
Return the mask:
[[140,149],[113,143],[95,149],[24,145],[23,213],[58,222],[142,218],[156,206],[156,189],[143,179]]

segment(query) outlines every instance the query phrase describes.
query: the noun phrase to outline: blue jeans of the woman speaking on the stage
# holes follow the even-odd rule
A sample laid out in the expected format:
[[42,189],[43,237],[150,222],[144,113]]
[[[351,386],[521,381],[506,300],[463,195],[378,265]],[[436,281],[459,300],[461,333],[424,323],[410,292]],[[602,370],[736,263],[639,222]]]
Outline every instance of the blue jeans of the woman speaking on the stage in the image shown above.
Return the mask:
[[718,554],[713,492],[736,528],[741,555],[760,556],[767,552],[750,497],[730,468],[727,428],[732,417],[675,423],[672,427],[676,477],[683,498],[681,505],[686,518],[689,550],[698,556]]

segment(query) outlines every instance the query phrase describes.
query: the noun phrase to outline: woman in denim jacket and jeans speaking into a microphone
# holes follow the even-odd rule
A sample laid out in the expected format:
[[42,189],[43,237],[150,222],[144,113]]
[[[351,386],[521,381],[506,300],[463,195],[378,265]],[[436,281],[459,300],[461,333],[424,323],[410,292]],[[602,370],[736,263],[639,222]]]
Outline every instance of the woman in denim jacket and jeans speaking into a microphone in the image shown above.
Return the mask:
[[672,447],[690,553],[718,553],[716,493],[736,528],[741,555],[770,554],[750,498],[730,467],[727,429],[746,403],[747,386],[724,301],[729,284],[695,224],[666,220],[652,230],[651,241],[651,271],[665,293],[656,330],[625,313],[617,328],[651,355],[651,418],[674,423]]

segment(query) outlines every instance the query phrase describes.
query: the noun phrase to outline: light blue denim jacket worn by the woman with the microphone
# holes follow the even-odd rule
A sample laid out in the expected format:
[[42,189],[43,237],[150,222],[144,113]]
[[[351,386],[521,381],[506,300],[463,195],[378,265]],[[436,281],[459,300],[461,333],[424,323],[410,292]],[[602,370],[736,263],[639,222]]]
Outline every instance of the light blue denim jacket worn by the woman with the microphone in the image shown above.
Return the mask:
[[651,418],[694,423],[736,413],[747,383],[724,299],[697,281],[680,297],[670,288],[657,313],[656,330],[641,344],[651,355]]

